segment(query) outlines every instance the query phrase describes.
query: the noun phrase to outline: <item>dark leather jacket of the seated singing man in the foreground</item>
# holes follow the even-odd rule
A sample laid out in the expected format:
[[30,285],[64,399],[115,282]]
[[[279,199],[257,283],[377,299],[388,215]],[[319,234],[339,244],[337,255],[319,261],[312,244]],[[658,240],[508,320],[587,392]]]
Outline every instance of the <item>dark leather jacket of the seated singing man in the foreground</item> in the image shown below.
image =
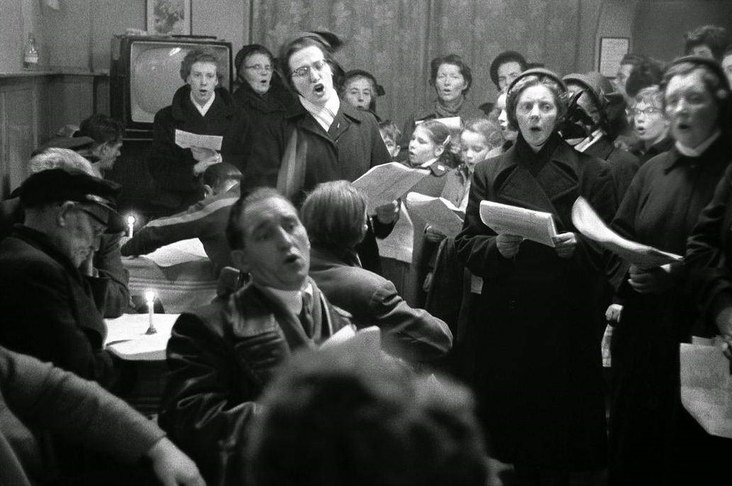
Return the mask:
[[[313,291],[321,315],[313,339],[297,316],[255,284],[176,321],[159,422],[209,485],[242,483],[242,427],[275,369],[296,349],[313,348],[348,325],[314,283]],[[234,308],[242,320],[230,318]]]

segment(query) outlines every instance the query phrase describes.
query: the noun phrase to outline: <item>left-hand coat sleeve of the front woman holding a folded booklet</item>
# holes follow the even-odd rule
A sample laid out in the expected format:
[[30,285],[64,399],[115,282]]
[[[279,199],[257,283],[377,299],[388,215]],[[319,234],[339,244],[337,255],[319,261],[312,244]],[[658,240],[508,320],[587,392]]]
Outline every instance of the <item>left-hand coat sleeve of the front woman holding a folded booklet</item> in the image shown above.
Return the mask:
[[485,166],[479,166],[470,185],[463,230],[455,237],[458,259],[476,276],[487,276],[490,261],[503,258],[496,247],[496,232],[480,220],[480,202],[487,197]]

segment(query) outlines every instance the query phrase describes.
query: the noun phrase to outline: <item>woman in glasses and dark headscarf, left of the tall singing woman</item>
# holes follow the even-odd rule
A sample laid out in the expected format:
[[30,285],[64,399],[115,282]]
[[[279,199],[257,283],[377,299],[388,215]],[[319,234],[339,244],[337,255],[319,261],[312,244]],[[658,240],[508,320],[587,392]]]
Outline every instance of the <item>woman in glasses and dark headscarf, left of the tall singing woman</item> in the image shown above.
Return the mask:
[[234,99],[249,115],[252,126],[261,126],[269,117],[281,118],[296,103],[275,69],[275,56],[264,45],[245,45],[236,53]]

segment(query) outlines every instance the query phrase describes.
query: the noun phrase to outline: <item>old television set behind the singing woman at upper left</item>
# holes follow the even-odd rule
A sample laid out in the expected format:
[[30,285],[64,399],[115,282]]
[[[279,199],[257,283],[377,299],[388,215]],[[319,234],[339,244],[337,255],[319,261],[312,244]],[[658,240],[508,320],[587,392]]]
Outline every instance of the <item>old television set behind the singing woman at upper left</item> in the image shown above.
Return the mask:
[[231,88],[231,42],[215,37],[115,36],[111,46],[110,114],[125,125],[125,138],[152,138],[155,113],[171,104],[184,81],[181,61],[190,50],[209,48]]

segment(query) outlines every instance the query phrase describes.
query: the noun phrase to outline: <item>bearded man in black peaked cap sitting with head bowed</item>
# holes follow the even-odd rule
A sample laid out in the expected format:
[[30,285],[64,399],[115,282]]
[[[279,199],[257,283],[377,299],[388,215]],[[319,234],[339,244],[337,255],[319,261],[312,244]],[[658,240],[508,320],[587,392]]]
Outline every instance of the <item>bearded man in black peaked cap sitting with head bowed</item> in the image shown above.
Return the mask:
[[31,175],[15,195],[25,210],[0,242],[0,345],[110,388],[116,381],[99,301],[108,284],[82,264],[105,231],[119,232],[116,183],[61,169]]

